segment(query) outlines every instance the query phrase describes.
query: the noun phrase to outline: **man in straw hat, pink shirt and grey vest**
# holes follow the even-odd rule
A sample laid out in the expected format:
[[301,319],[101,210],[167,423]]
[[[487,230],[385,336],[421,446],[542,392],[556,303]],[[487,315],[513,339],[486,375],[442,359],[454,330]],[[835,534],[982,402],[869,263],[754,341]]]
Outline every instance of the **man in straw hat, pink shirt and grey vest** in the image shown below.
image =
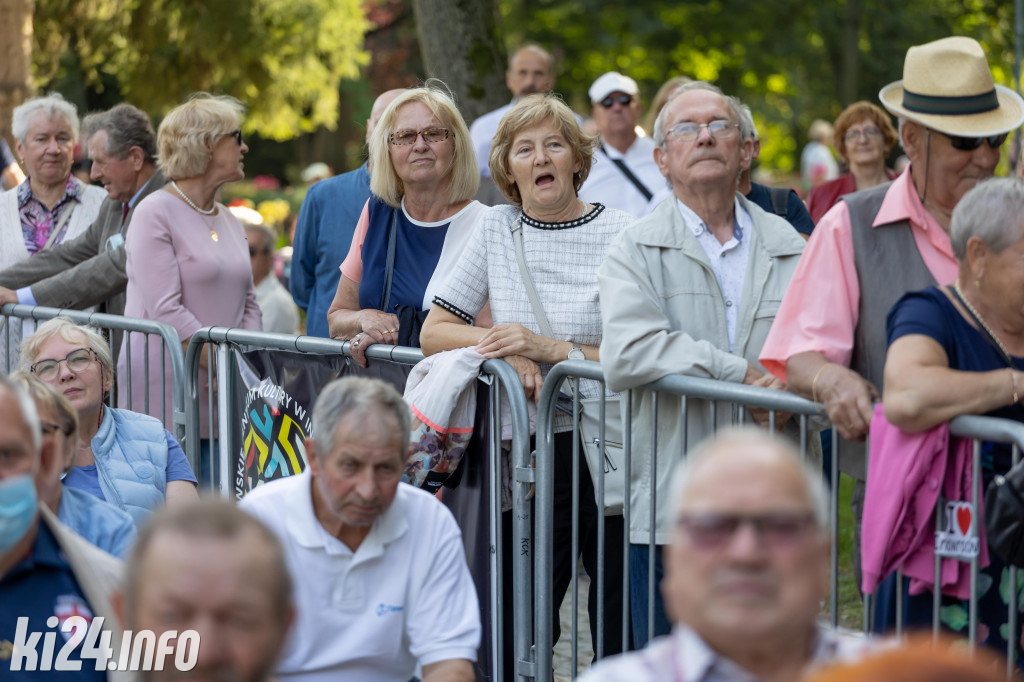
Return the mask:
[[909,168],[888,184],[848,195],[818,222],[761,351],[791,390],[824,403],[839,433],[840,469],[856,480],[853,507],[859,584],[863,446],[882,394],[886,315],[907,291],[956,278],[949,216],[991,177],[1024,99],[995,85],[971,38],[907,50],[903,80],[879,93],[899,117]]

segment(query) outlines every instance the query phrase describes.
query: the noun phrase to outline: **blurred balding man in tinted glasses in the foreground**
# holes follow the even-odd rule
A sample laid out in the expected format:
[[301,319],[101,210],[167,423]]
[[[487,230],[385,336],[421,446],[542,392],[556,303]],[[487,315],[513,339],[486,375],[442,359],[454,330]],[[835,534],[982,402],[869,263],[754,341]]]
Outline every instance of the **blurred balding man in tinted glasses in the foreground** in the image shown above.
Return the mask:
[[581,682],[781,682],[864,646],[816,624],[828,590],[827,497],[794,446],[730,428],[681,462],[662,593],[672,633]]

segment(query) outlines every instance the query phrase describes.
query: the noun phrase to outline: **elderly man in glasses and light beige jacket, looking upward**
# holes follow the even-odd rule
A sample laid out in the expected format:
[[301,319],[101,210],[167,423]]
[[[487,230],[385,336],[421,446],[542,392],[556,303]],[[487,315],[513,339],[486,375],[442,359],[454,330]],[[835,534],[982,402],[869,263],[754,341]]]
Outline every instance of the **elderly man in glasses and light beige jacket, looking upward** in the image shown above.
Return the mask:
[[[737,193],[754,146],[740,108],[735,97],[695,82],[681,86],[657,117],[654,159],[673,197],[620,233],[598,273],[601,365],[613,391],[672,374],[781,386],[757,357],[805,243],[785,220]],[[662,395],[655,436],[654,404],[649,392],[633,401],[630,582],[638,646],[649,625],[648,543],[664,546],[671,536],[668,454],[685,452],[714,428],[708,403],[690,401],[683,424],[680,399]],[[654,437],[662,456],[651,489]],[[652,569],[659,580],[659,560]],[[653,608],[654,634],[665,634],[660,604]]]

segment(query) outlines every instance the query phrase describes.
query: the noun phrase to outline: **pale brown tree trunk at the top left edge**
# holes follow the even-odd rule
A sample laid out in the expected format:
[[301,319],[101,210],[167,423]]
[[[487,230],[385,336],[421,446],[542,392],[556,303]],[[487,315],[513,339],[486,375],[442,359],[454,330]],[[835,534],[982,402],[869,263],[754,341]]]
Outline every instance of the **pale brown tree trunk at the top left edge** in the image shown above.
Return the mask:
[[33,9],[33,0],[0,0],[0,134],[11,150],[11,113],[32,95]]

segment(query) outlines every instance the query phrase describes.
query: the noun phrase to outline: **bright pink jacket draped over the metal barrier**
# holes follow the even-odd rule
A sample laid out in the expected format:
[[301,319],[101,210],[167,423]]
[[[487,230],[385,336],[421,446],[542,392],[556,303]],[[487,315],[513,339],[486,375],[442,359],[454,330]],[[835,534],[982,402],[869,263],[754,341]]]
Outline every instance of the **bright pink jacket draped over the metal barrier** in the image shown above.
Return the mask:
[[[882,403],[871,420],[867,491],[860,539],[861,589],[871,593],[894,570],[910,579],[910,594],[931,591],[935,582],[935,505],[971,499],[972,441],[950,442],[949,425],[907,433],[886,420]],[[982,495],[976,527],[982,528]],[[979,566],[988,565],[981,532]],[[967,599],[971,564],[943,559],[942,593]]]

